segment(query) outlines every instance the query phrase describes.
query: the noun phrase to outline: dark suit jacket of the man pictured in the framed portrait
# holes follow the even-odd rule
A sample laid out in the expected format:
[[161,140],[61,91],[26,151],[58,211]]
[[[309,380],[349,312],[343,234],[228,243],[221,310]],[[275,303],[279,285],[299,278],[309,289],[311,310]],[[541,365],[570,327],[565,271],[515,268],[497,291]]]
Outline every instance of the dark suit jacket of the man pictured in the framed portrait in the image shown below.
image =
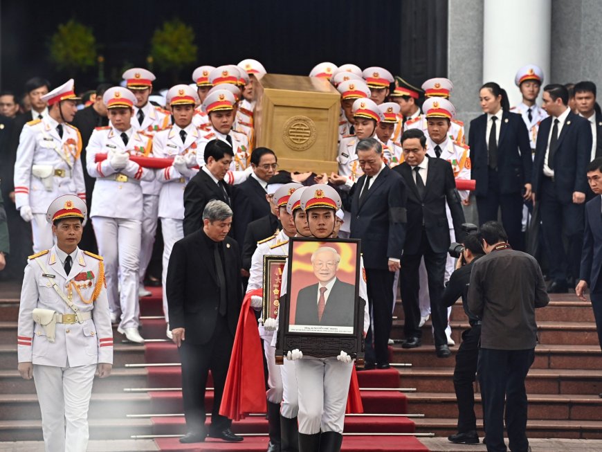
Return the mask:
[[354,299],[356,289],[337,278],[329,293],[322,320],[318,320],[318,284],[304,287],[297,296],[295,325],[354,326]]

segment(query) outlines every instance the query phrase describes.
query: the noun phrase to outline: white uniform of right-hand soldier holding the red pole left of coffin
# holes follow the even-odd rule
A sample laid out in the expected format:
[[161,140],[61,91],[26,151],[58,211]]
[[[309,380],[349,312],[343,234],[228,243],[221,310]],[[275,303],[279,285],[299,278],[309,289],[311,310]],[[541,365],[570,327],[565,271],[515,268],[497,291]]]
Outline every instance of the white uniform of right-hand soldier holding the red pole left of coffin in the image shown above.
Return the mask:
[[[181,130],[186,132],[184,142],[180,136]],[[194,124],[190,123],[184,129],[174,125],[155,135],[153,153],[160,159],[174,159],[178,155],[196,153],[200,148],[200,141],[201,131],[194,127]],[[157,181],[161,184],[158,217],[161,218],[161,230],[163,231],[163,273],[161,275],[163,287],[167,287],[167,265],[170,262],[174,243],[184,237],[184,189],[197,172],[199,172],[198,169],[189,168],[187,174],[181,174],[173,165],[156,172]],[[167,291],[165,290],[163,290],[163,311],[165,312],[165,321],[169,323]]]

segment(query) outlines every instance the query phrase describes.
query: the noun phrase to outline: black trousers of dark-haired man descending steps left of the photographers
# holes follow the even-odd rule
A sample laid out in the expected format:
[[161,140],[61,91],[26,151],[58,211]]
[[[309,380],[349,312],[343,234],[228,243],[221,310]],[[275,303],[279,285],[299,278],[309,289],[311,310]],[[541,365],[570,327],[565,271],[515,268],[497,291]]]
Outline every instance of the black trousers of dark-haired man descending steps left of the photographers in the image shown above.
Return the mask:
[[422,337],[420,324],[420,307],[418,292],[420,289],[420,278],[418,269],[421,257],[424,256],[424,265],[428,276],[428,293],[430,296],[430,318],[432,327],[435,329],[435,346],[446,345],[447,336],[447,308],[441,305],[441,295],[444,291],[445,262],[447,253],[435,253],[432,251],[426,232],[423,228],[419,253],[403,254],[401,257],[401,271],[399,271],[399,282],[401,286],[401,302],[405,323],[403,332],[405,338]]

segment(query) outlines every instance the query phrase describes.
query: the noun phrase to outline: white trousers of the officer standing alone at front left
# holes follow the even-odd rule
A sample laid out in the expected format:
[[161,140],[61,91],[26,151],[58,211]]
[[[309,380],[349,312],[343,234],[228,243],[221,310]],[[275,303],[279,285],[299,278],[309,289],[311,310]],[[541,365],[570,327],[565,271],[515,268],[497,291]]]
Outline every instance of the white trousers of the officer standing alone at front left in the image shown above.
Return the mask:
[[88,408],[95,371],[95,364],[75,368],[33,366],[46,452],[86,451]]

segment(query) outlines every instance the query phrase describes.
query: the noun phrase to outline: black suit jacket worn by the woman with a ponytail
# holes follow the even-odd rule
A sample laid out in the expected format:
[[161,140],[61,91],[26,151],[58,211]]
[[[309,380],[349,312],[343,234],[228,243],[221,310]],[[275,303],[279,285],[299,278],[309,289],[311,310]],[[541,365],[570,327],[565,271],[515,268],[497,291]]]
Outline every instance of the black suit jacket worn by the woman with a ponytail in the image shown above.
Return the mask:
[[[529,131],[522,116],[510,111],[502,114],[500,138],[498,139],[498,180],[500,193],[518,193],[531,183],[533,159]],[[482,114],[471,121],[468,144],[471,146],[471,179],[477,186],[475,195],[486,196],[489,191],[489,152],[487,151],[487,115]]]

